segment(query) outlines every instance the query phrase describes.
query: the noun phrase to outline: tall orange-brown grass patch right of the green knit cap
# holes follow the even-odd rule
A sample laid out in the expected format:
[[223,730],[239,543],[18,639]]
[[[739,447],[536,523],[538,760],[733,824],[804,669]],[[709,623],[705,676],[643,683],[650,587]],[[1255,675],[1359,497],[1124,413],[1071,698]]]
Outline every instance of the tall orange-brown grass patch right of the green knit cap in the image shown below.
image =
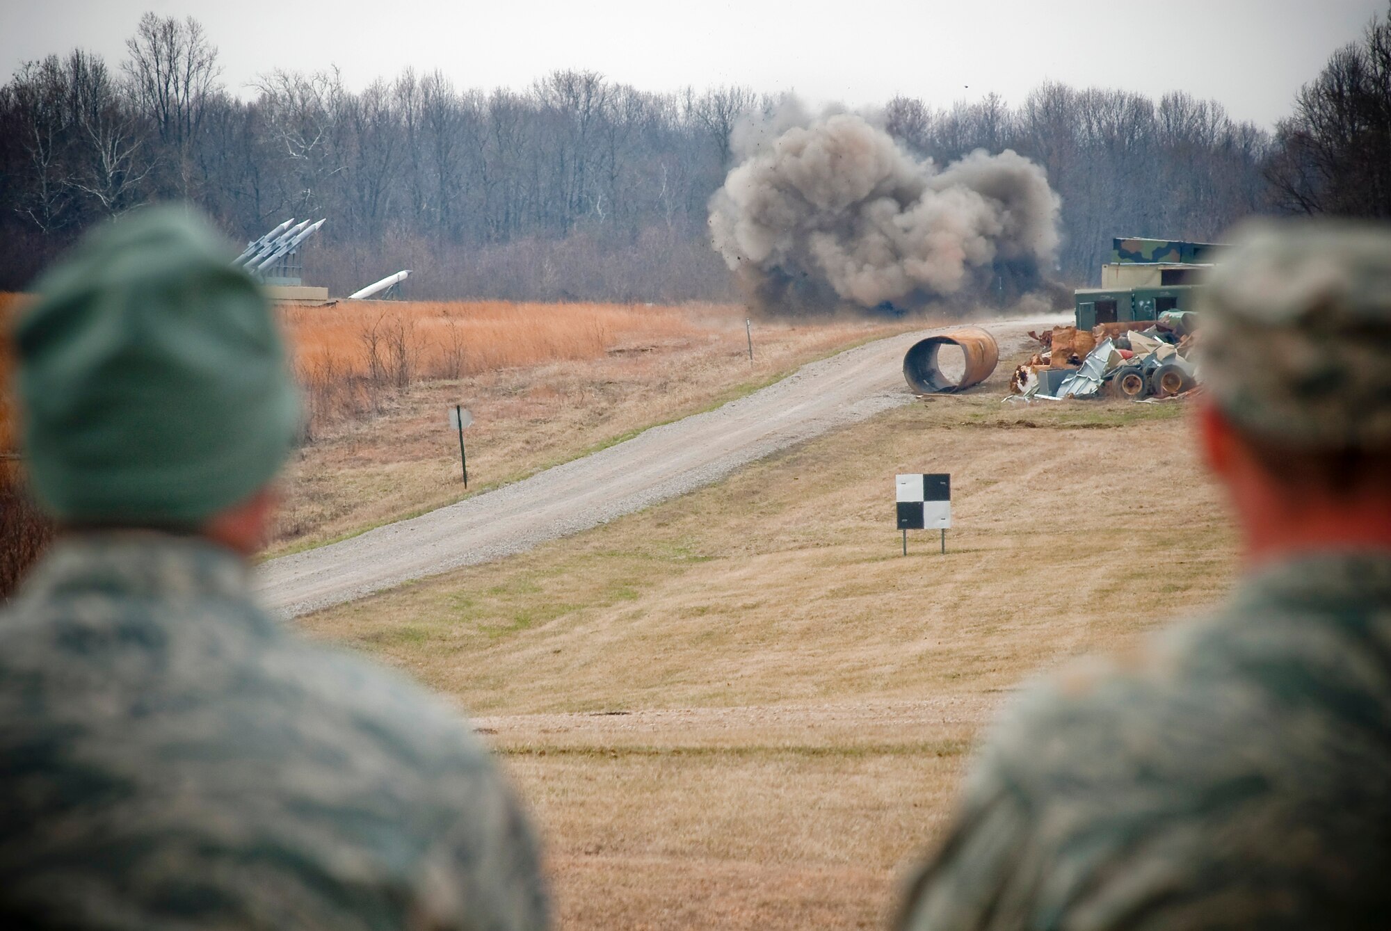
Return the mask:
[[600,359],[702,332],[682,308],[632,304],[341,302],[284,304],[280,317],[309,403],[306,439],[345,417],[380,413],[417,381]]

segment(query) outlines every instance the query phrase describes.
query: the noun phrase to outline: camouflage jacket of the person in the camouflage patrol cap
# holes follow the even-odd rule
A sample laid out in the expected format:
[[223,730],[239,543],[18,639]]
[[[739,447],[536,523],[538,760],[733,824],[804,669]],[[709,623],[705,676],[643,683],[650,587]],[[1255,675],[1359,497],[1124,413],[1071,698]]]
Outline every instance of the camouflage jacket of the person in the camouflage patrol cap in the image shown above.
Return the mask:
[[1373,878],[1388,786],[1391,559],[1276,567],[1128,661],[1027,689],[903,923],[1308,924],[1330,902],[1391,917]]

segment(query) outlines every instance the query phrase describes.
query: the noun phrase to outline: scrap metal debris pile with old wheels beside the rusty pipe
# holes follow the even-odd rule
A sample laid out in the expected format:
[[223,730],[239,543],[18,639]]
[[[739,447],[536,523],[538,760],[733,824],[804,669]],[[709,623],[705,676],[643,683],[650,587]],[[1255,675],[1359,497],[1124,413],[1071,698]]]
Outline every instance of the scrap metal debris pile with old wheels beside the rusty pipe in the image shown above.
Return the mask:
[[1159,320],[1054,327],[1031,336],[1042,352],[1010,377],[1010,390],[1027,399],[1164,399],[1198,385],[1196,315],[1173,311]]

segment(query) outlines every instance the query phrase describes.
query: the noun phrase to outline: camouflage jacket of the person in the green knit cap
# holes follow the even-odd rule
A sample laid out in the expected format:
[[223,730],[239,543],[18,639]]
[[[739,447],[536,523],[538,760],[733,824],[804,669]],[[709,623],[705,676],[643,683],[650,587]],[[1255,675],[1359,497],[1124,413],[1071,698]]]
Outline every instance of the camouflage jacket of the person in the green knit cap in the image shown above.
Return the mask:
[[542,928],[456,711],[305,642],[192,541],[60,545],[0,621],[0,913],[95,928]]

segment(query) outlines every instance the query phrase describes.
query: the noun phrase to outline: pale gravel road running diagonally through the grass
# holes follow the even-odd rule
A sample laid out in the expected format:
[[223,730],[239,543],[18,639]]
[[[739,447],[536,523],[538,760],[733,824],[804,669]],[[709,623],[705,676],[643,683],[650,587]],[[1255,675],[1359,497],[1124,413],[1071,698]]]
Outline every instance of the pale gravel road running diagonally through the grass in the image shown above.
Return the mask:
[[[1066,320],[982,325],[1000,342],[1004,359],[1028,329]],[[911,402],[903,354],[938,332],[904,333],[839,353],[716,410],[655,427],[513,485],[270,560],[257,568],[257,588],[267,604],[294,617],[512,556],[709,485],[746,463]]]

